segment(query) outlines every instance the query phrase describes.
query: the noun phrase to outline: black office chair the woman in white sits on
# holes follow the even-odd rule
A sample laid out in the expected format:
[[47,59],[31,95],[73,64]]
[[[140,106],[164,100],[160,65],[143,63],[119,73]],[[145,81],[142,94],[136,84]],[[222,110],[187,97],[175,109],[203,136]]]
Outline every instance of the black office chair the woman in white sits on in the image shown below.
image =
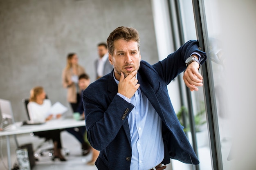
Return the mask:
[[[47,95],[45,96],[45,99],[48,99]],[[26,112],[27,112],[27,117],[28,117],[29,120],[31,120],[30,116],[29,116],[29,110],[27,108],[27,105],[29,104],[29,99],[22,99],[22,102],[25,104],[25,109],[26,109]],[[34,133],[31,132],[30,135],[34,136]],[[49,145],[47,148],[43,148],[45,143],[48,143],[48,145]],[[69,155],[70,150],[68,150],[67,148],[62,148],[62,149],[64,150],[65,155]],[[52,157],[53,156],[53,152],[54,152],[53,144],[52,144],[52,142],[50,141],[49,138],[45,138],[45,140],[42,143],[40,143],[38,145],[38,147],[35,149],[34,157],[35,157],[36,161],[38,161],[38,156],[39,155],[43,156],[45,152],[48,152],[48,156],[51,157],[51,159],[54,161],[54,157]]]

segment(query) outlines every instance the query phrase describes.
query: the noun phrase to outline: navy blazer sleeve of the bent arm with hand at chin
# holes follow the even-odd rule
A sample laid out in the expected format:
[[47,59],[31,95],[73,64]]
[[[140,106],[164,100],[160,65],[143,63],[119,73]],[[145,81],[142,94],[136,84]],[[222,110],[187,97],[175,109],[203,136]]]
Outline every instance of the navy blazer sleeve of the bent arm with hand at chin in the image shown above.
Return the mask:
[[[94,93],[90,93],[91,91]],[[119,95],[115,95],[111,101],[106,101],[105,97],[100,90],[95,93],[95,87],[89,86],[83,92],[87,137],[96,150],[105,149],[119,136],[117,134],[120,129],[124,130],[122,126],[128,123],[128,114],[134,108]],[[130,134],[127,135],[130,137]]]

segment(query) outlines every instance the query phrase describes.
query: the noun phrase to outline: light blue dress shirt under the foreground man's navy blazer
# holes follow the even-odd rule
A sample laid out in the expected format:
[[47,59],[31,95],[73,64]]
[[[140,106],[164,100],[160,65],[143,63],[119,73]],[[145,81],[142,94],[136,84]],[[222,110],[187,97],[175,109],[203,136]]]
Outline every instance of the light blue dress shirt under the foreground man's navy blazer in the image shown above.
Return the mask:
[[[117,79],[115,82],[119,84]],[[162,120],[140,88],[130,99],[117,95],[134,106],[128,115],[132,144],[130,170],[149,170],[164,159]]]

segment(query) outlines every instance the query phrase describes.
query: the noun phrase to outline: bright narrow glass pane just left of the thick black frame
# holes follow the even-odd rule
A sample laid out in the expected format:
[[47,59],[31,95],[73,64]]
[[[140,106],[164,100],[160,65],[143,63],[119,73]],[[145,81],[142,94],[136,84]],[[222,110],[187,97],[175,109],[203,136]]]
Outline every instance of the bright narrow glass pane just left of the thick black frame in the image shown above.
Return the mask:
[[[181,17],[182,17],[182,26],[184,32],[184,42],[188,40],[196,40],[195,32],[195,21],[193,13],[193,5],[191,0],[180,0],[181,7]],[[190,93],[188,91],[188,93]],[[190,100],[190,99],[189,99]],[[190,101],[188,101],[190,102]],[[196,137],[196,146],[198,152],[198,158],[200,161],[199,169],[200,170],[212,170],[211,168],[211,152],[209,146],[209,135],[207,130],[206,122],[206,113],[204,107],[204,93],[203,88],[199,88],[198,92],[191,92],[191,102],[193,107],[193,119],[195,121],[195,137]],[[189,141],[192,142],[191,130],[189,128],[189,110],[188,106],[185,106],[186,110],[186,122],[188,127],[185,129],[189,137]],[[191,166],[186,168],[187,170],[191,169]],[[194,168],[195,169],[195,168]],[[179,167],[173,167],[173,170],[179,170]]]

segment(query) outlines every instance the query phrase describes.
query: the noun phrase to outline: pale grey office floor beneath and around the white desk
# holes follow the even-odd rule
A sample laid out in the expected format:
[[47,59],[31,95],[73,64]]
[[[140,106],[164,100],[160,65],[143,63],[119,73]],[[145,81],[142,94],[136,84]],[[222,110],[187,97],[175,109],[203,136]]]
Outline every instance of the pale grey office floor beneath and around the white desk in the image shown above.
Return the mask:
[[[33,148],[37,147],[38,144],[43,142],[43,139],[40,139],[36,136],[29,136],[29,134],[25,135],[18,135],[18,143],[19,145],[22,144],[28,144],[32,143]],[[65,156],[67,159],[66,162],[61,162],[59,160],[52,161],[49,156],[43,155],[39,156],[39,161],[36,161],[36,165],[32,170],[97,170],[96,166],[89,166],[86,163],[90,161],[92,155],[86,155],[82,156],[81,155],[81,146],[79,142],[68,132],[63,131],[61,132],[61,138],[62,138],[62,145],[64,148],[67,148],[70,150],[70,154]],[[14,163],[16,163],[16,155],[15,155],[15,150],[16,150],[16,144],[13,139],[13,137],[10,137],[11,139],[11,163],[12,167]],[[5,137],[1,138],[0,141],[0,150],[3,155],[0,157],[0,169],[1,170],[7,170],[7,151],[6,151],[6,139]]]

